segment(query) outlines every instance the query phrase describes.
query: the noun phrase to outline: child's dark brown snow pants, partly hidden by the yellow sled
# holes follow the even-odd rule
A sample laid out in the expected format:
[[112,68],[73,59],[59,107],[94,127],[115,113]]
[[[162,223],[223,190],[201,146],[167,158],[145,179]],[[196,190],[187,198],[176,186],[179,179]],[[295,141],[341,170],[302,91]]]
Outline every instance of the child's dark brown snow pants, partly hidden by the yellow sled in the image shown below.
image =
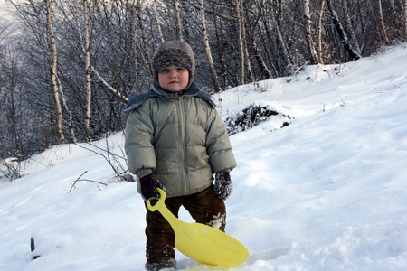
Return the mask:
[[[226,207],[213,193],[213,186],[189,196],[166,198],[165,202],[175,217],[178,217],[180,207],[184,206],[196,222],[222,231],[225,229]],[[152,200],[151,204],[156,204],[156,200]],[[175,234],[170,224],[158,211],[152,212],[148,209],[146,220],[147,264],[175,259]]]

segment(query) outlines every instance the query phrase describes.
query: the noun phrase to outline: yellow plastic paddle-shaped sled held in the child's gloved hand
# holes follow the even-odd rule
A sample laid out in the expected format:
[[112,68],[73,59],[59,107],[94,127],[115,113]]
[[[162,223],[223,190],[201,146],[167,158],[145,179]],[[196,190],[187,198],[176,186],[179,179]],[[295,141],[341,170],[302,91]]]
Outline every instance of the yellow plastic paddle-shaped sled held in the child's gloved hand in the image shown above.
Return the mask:
[[201,223],[186,223],[178,220],[166,208],[166,192],[156,188],[161,198],[154,206],[147,201],[151,211],[158,210],[170,223],[175,232],[175,247],[186,257],[213,266],[232,268],[240,266],[249,258],[249,250],[237,239],[218,229],[213,229]]

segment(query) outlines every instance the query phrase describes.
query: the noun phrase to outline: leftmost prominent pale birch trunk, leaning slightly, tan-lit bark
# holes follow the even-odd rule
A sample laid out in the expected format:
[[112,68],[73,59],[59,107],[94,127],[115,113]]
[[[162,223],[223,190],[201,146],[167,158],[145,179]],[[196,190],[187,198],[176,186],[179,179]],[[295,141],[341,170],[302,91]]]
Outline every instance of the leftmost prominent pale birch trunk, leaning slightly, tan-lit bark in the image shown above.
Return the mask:
[[52,25],[52,16],[51,16],[51,0],[46,0],[46,9],[47,9],[47,24],[48,24],[48,35],[51,41],[51,85],[52,85],[52,93],[53,98],[55,101],[55,117],[56,117],[56,126],[57,126],[57,134],[58,140],[60,143],[65,142],[65,137],[62,133],[62,107],[60,103],[60,96],[58,92],[58,85],[57,85],[57,47],[55,42],[55,35],[53,33],[53,25]]

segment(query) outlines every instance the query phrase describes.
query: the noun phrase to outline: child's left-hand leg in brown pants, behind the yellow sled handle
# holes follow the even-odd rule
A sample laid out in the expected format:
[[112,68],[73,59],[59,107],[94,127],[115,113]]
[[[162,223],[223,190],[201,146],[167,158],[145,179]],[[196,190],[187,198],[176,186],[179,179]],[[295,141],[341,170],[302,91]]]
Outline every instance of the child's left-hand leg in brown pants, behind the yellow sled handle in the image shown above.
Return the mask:
[[[156,201],[151,201],[156,204]],[[182,200],[177,198],[166,199],[166,206],[176,217]],[[171,225],[158,211],[147,209],[146,214],[146,269],[156,271],[163,268],[176,268],[175,261],[175,235]]]

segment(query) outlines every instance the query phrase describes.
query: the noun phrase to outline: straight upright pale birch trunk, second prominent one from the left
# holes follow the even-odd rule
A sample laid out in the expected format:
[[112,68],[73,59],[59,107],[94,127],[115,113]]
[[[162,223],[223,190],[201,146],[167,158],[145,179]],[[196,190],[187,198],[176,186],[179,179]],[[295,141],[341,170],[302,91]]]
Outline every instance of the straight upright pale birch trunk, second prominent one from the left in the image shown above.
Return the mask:
[[89,14],[88,0],[83,0],[85,16],[85,76],[86,76],[86,116],[85,116],[85,137],[91,140],[90,135],[90,105],[91,105],[91,82],[90,82],[90,37],[89,37]]

